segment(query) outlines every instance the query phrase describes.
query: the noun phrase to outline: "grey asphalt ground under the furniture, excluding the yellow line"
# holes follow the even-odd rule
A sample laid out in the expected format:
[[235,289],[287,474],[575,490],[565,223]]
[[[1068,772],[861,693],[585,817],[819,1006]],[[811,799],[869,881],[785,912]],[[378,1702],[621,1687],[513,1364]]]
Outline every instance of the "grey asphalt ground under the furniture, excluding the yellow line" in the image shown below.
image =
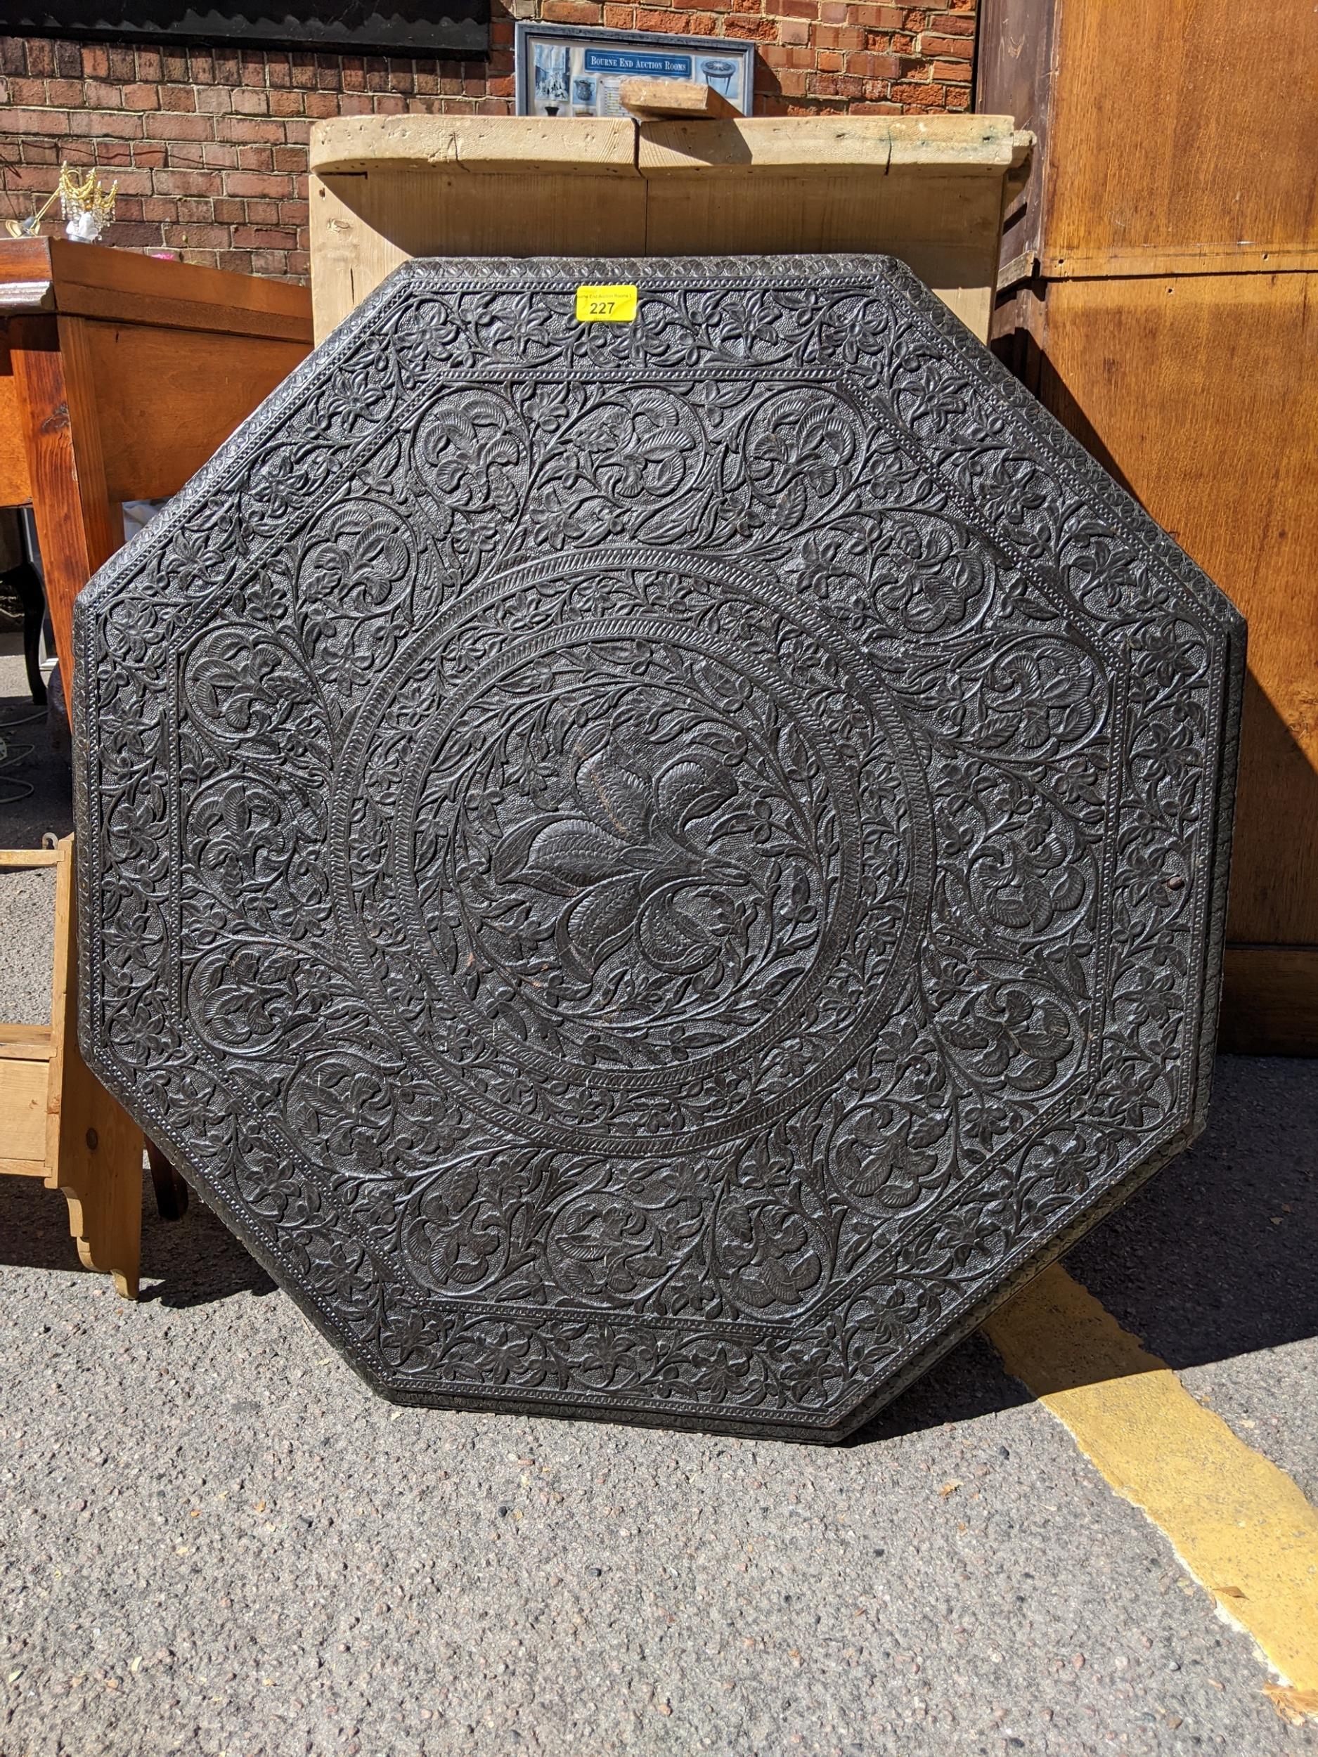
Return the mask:
[[[11,775],[0,842],[69,828],[58,763]],[[0,1017],[51,886],[0,873]],[[1221,1058],[1067,1263],[1311,1500],[1316,1142],[1318,1065]],[[982,1335],[829,1451],[394,1409],[197,1200],[146,1198],[142,1270],[0,1177],[0,1757],[1318,1750]]]

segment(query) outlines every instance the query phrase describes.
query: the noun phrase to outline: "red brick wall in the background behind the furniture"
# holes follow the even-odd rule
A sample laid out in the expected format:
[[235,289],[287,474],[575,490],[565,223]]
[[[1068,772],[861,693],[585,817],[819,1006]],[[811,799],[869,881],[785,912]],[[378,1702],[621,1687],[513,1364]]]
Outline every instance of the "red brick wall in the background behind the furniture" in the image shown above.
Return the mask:
[[0,37],[0,220],[32,213],[62,160],[95,163],[119,181],[107,242],[302,278],[311,123],[511,112],[515,16],[756,42],[761,116],[970,109],[975,0],[494,0],[492,54],[473,63]]

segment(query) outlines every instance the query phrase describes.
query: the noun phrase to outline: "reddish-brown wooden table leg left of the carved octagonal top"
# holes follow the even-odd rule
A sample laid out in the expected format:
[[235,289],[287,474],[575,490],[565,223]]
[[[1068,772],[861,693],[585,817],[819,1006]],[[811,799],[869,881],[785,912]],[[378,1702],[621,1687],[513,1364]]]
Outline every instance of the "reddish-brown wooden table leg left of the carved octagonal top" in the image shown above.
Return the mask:
[[109,499],[86,322],[12,318],[9,351],[32,478],[32,513],[65,701],[72,701],[74,599],[123,543]]

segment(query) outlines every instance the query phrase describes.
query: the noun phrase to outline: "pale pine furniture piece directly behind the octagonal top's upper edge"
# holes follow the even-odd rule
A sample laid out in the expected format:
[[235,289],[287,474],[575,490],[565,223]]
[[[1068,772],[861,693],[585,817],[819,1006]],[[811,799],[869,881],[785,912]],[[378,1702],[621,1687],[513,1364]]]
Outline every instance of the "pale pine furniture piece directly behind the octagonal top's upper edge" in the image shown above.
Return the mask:
[[875,249],[988,336],[1007,116],[373,116],[311,139],[316,339],[408,257]]

